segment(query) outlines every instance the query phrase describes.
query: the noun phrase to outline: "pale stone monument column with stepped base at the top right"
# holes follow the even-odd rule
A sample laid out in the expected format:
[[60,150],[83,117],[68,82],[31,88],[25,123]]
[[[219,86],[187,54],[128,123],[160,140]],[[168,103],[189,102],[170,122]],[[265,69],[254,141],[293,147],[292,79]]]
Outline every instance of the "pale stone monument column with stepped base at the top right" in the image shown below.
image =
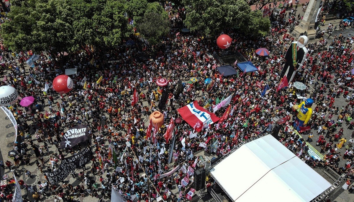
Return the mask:
[[294,38],[298,38],[301,35],[307,35],[309,41],[315,39],[316,36],[315,20],[316,20],[318,10],[320,8],[320,4],[321,4],[321,0],[310,0],[302,21],[299,23],[298,26],[294,28],[294,30],[291,33],[291,35]]

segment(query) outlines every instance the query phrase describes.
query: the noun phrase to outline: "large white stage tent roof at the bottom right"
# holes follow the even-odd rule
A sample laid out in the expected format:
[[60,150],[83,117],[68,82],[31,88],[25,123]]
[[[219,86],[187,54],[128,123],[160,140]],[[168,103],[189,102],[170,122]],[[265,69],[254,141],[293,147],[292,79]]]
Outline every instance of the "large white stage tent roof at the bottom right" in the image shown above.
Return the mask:
[[331,184],[273,136],[242,145],[211,169],[233,201],[311,201]]

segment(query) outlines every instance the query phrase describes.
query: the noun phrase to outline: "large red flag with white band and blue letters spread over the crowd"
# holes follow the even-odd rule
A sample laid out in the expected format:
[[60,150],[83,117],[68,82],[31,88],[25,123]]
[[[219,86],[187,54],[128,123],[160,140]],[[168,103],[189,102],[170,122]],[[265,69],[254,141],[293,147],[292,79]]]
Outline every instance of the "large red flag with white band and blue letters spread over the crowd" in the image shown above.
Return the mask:
[[[194,127],[197,123],[200,126],[209,125],[217,122],[219,118],[214,114],[206,111],[203,107],[198,105],[197,101],[191,102],[188,105],[177,109],[190,126]],[[198,124],[197,124],[198,125]],[[197,127],[196,131],[201,131],[202,127]]]

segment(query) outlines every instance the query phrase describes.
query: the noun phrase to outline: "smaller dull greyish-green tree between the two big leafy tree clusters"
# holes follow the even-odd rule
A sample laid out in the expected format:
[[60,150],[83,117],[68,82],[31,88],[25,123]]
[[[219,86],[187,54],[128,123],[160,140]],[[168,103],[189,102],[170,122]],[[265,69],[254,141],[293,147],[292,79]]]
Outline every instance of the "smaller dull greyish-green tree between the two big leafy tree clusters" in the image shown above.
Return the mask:
[[149,41],[150,44],[160,42],[162,36],[166,36],[171,28],[168,18],[163,17],[160,13],[145,13],[144,18],[137,24],[139,33]]

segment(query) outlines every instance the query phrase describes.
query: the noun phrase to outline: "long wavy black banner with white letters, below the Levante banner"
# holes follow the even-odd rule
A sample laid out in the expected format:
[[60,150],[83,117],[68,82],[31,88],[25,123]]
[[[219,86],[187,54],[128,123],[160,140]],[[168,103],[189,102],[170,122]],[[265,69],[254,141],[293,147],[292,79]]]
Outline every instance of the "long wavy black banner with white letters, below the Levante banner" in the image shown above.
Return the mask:
[[63,182],[70,174],[70,170],[81,168],[92,159],[89,148],[83,149],[80,153],[67,157],[62,160],[60,166],[53,172],[44,171],[51,184],[58,184]]

